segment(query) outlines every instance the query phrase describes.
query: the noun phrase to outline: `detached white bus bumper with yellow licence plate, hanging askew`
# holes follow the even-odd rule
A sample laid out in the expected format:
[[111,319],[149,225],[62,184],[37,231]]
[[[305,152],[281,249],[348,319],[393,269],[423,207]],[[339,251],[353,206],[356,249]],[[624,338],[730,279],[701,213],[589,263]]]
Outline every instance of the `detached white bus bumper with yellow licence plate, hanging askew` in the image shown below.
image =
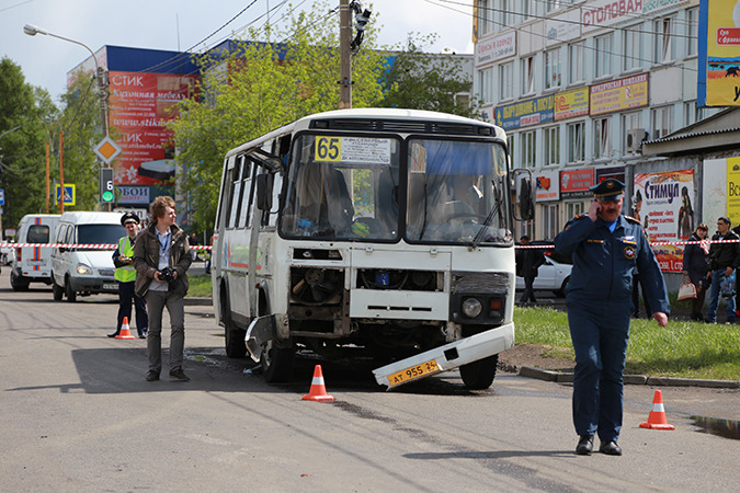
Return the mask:
[[373,370],[387,390],[499,354],[514,346],[514,322],[435,347]]

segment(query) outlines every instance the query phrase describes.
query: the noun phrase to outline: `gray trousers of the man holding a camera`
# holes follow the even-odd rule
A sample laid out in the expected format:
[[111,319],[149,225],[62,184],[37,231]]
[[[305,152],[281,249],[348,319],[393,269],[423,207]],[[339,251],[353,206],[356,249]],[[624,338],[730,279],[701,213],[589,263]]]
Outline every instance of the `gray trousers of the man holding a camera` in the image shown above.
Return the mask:
[[149,312],[147,353],[149,369],[162,370],[162,312],[170,313],[170,370],[182,368],[182,353],[185,346],[185,299],[171,291],[152,291],[145,295]]

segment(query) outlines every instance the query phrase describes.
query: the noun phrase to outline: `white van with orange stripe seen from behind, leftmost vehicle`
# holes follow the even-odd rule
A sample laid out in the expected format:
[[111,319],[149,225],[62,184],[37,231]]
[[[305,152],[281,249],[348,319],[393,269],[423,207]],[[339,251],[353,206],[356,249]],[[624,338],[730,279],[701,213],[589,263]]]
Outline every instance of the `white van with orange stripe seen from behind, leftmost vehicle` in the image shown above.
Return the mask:
[[35,243],[14,249],[10,285],[15,291],[29,289],[30,283],[52,284],[52,249],[42,246],[54,238],[58,214],[29,214],[18,225],[16,243]]

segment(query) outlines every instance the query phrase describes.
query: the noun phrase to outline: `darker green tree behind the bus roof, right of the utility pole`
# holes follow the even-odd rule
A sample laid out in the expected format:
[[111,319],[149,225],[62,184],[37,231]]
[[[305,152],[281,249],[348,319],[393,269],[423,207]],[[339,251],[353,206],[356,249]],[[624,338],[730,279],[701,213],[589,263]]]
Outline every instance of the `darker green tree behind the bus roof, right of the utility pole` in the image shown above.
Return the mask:
[[[432,34],[394,53],[394,61],[384,76],[384,107],[429,110],[478,117],[480,104],[456,94],[469,94],[473,76],[464,70],[463,60],[454,54],[424,53],[421,47],[436,39]],[[471,104],[470,104],[471,103]]]

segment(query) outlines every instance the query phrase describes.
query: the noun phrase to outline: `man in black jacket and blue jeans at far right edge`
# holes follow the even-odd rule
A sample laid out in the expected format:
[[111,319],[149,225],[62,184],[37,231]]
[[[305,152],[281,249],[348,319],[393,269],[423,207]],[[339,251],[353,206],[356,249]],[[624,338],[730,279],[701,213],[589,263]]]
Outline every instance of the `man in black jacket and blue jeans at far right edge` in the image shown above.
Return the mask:
[[[717,321],[717,309],[719,308],[719,298],[721,293],[719,285],[725,277],[732,275],[732,272],[740,265],[740,237],[730,229],[732,222],[727,217],[717,219],[717,232],[711,237],[711,246],[709,246],[709,270],[711,271],[711,291],[709,293],[709,308],[707,317],[704,319],[707,323]],[[735,240],[735,241],[728,241]],[[727,302],[727,323],[733,323],[735,297],[726,298]]]

